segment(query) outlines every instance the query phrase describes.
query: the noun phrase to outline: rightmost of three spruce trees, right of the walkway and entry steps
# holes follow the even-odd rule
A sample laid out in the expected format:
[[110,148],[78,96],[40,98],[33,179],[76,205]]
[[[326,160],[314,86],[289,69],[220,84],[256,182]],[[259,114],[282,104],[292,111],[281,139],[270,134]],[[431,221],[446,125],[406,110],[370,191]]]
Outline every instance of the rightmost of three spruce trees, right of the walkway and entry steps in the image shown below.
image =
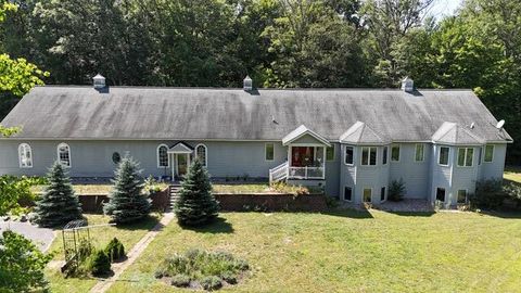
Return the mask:
[[195,160],[181,183],[179,200],[174,212],[179,224],[199,226],[217,218],[219,203],[212,194],[212,183],[207,170],[200,160]]

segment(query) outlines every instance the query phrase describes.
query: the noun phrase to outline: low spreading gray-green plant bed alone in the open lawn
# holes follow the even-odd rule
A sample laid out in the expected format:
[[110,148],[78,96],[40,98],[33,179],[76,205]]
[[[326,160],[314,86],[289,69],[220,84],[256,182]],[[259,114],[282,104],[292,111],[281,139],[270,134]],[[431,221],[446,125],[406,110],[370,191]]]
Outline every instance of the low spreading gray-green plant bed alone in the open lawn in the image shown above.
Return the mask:
[[205,290],[216,290],[221,282],[237,283],[238,277],[249,270],[245,260],[226,252],[189,250],[183,255],[175,254],[166,258],[155,272],[155,277],[171,276],[171,284],[187,286],[190,281],[199,282]]

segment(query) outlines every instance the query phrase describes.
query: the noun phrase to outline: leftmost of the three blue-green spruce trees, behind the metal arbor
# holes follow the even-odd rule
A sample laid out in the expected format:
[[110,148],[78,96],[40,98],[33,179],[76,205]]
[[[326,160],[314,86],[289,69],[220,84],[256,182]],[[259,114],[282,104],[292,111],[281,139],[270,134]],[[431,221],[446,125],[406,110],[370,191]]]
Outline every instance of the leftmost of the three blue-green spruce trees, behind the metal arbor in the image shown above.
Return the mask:
[[62,164],[55,162],[47,175],[49,184],[36,202],[35,221],[42,227],[56,227],[81,218],[78,196]]

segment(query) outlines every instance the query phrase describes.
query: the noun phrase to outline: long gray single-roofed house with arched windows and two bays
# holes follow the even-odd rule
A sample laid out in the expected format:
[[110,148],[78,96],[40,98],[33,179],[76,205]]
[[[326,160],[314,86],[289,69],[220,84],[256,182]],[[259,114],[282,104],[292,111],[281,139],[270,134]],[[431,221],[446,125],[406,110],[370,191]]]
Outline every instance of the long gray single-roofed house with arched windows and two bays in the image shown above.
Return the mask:
[[471,90],[36,87],[2,122],[0,174],[111,177],[129,153],[145,175],[179,178],[194,157],[214,179],[321,186],[354,203],[462,202],[501,178],[510,136]]

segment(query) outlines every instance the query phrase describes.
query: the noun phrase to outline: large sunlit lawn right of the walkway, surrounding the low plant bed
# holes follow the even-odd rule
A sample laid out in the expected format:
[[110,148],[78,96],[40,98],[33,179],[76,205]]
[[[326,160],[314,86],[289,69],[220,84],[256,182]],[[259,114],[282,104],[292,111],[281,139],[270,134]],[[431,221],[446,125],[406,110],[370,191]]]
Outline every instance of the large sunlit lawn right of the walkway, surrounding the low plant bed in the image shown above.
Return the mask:
[[190,247],[227,251],[251,276],[228,292],[516,292],[521,214],[223,213],[204,229],[168,225],[110,292],[186,292],[154,279]]

